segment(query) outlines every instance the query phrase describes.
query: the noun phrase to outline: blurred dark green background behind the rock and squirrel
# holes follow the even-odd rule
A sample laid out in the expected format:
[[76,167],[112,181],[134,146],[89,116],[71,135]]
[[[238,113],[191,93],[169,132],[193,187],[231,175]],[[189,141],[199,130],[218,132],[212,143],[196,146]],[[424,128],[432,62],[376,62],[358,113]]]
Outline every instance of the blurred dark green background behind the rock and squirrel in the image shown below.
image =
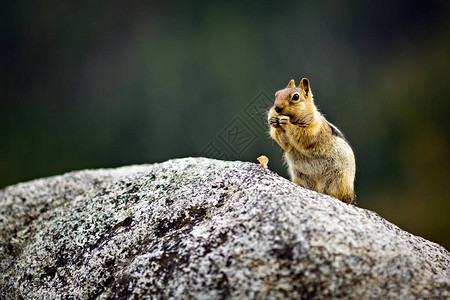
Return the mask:
[[286,176],[254,121],[308,77],[357,205],[450,248],[450,1],[4,1],[0,22],[0,187],[200,155]]

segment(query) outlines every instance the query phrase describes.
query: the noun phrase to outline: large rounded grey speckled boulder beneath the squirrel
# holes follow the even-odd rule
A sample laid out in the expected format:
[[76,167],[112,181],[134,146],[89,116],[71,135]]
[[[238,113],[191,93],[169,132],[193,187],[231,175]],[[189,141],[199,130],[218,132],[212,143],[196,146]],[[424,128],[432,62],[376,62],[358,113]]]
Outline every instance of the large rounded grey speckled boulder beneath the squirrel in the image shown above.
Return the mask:
[[1,299],[450,297],[446,249],[254,163],[17,184],[0,231]]

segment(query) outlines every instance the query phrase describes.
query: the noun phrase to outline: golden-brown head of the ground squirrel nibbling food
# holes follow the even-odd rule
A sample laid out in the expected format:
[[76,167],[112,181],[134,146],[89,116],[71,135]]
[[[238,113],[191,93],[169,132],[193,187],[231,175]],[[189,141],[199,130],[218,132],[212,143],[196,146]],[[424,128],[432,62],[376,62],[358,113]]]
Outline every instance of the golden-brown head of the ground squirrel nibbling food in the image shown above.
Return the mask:
[[285,89],[275,93],[272,111],[275,115],[288,116],[293,124],[310,125],[315,118],[316,108],[309,80],[303,78],[298,86],[295,86],[294,79],[289,81]]

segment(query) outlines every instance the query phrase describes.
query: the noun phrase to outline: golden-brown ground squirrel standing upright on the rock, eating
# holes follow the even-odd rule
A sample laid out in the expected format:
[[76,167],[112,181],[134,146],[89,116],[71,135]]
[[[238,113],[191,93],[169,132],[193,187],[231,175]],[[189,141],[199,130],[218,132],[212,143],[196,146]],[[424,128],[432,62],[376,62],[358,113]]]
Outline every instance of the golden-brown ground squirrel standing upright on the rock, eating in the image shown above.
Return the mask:
[[284,150],[291,180],[352,203],[355,156],[344,135],[314,105],[309,80],[291,80],[276,92],[269,111],[270,135]]

